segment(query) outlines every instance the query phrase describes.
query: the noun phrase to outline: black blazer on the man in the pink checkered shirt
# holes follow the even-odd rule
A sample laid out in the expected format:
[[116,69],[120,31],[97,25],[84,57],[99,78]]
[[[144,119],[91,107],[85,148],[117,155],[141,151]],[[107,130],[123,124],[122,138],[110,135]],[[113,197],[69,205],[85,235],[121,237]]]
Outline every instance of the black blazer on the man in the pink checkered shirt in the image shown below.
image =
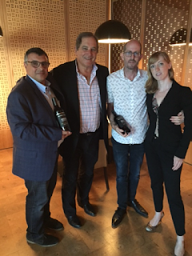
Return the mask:
[[[101,138],[104,138],[106,149],[108,150],[108,123],[106,120],[106,77],[109,71],[106,66],[98,65],[96,76],[98,78],[98,86],[100,88],[101,102],[102,102],[102,116],[101,116]],[[51,71],[54,80],[58,83],[62,94],[66,100],[66,117],[70,124],[72,134],[67,137],[61,146],[61,154],[73,154],[80,130],[80,115],[79,115],[79,101],[78,101],[78,81],[75,61],[66,62]],[[64,150],[67,149],[67,150]]]

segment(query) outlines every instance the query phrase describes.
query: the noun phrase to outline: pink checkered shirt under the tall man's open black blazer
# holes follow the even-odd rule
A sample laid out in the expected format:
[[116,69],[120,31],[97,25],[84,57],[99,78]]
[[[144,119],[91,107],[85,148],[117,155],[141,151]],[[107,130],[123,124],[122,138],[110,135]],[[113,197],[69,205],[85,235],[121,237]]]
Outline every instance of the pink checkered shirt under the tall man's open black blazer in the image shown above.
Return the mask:
[[78,74],[80,134],[86,134],[87,132],[94,132],[100,126],[101,97],[98,78],[96,77],[98,67],[93,66],[90,74],[90,85],[88,85],[86,78],[78,72],[77,63],[76,70]]

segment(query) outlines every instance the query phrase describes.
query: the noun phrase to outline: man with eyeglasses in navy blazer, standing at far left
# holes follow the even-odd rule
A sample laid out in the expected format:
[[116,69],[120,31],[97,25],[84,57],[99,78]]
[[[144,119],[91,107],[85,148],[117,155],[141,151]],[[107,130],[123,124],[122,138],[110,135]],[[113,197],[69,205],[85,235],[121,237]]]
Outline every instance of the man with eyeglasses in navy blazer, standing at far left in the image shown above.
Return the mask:
[[[26,77],[18,80],[7,101],[6,114],[14,139],[13,174],[25,180],[26,241],[54,246],[59,240],[45,229],[63,230],[50,218],[50,198],[57,180],[58,142],[71,133],[58,127],[50,98],[64,102],[54,83],[46,80],[46,52],[30,48],[24,57]],[[49,94],[47,94],[49,89]],[[64,107],[64,106],[62,106]]]

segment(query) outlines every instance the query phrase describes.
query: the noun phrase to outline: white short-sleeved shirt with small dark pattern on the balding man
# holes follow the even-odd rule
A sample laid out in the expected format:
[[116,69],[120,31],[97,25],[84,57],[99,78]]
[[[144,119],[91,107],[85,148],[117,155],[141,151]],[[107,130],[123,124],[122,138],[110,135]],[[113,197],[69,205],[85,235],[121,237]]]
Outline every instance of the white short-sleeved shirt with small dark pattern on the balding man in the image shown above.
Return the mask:
[[106,88],[108,103],[114,103],[114,111],[121,114],[130,127],[130,135],[126,138],[112,129],[115,141],[122,144],[141,144],[146,137],[146,80],[147,73],[138,70],[133,81],[126,78],[124,69],[118,70],[107,77]]

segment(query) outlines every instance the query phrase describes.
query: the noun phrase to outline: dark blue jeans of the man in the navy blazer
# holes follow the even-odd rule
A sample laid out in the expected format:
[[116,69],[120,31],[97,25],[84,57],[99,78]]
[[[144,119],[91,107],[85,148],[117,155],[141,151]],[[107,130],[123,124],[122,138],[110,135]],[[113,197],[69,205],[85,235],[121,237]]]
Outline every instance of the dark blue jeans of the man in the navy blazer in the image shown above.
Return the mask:
[[26,238],[37,241],[43,237],[44,224],[50,218],[50,198],[57,182],[57,162],[50,180],[36,182],[25,180],[26,196]]

